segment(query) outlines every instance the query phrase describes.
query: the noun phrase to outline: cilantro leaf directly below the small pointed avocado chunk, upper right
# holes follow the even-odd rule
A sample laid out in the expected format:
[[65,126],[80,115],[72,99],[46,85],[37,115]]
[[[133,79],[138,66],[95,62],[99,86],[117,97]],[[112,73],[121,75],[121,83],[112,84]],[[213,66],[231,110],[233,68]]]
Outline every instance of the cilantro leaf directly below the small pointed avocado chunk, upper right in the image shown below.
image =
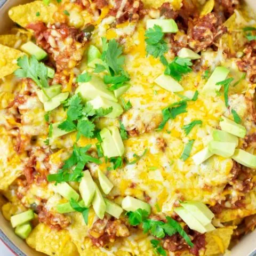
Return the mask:
[[175,57],[174,60],[166,66],[164,74],[173,77],[179,82],[181,81],[182,75],[192,71],[189,67],[192,65],[193,63],[188,58]]

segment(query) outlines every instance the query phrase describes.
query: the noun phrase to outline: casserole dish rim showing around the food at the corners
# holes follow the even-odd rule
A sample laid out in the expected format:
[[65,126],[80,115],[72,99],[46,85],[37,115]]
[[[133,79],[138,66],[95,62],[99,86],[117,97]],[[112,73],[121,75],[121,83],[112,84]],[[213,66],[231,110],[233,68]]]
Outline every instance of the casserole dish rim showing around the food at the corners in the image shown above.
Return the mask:
[[[17,6],[19,4],[24,4],[27,1],[14,1],[14,0],[9,0],[6,2],[2,8],[0,9],[0,17],[1,19],[1,24],[0,24],[0,34],[4,34],[6,30],[11,28],[13,23],[9,19],[7,12],[9,11],[10,7],[12,6]],[[247,1],[248,4],[252,6],[252,8],[256,8],[254,1]],[[14,233],[13,229],[11,228],[10,222],[6,221],[2,214],[1,214],[1,238],[3,241],[10,246],[10,248],[16,253],[17,255],[45,255],[39,252],[34,251],[30,247],[27,246],[27,244],[20,238],[18,238]],[[236,245],[232,251],[231,255],[232,256],[240,256],[240,255],[254,255],[254,244],[253,241],[256,238],[255,232],[250,233],[246,235],[245,237],[242,238],[242,241]]]

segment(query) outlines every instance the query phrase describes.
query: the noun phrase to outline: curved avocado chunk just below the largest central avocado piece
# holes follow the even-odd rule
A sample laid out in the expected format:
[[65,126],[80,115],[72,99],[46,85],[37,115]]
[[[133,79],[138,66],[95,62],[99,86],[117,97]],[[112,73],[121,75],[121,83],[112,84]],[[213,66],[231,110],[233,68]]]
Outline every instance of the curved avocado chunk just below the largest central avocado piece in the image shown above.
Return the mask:
[[93,106],[94,109],[98,109],[98,108],[106,109],[106,108],[112,107],[113,108],[112,111],[106,115],[106,117],[109,117],[109,118],[116,118],[120,116],[124,111],[120,104],[114,101],[102,98],[100,96],[88,102]]

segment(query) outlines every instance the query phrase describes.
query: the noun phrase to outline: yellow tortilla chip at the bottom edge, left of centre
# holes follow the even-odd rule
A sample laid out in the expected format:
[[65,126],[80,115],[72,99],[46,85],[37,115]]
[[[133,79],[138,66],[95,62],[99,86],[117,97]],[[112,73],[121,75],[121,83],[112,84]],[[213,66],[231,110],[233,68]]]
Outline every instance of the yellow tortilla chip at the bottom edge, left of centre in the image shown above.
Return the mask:
[[[36,251],[55,256],[77,256],[78,251],[67,230],[50,229],[39,223],[26,239],[27,244]],[[89,255],[89,254],[87,254]]]

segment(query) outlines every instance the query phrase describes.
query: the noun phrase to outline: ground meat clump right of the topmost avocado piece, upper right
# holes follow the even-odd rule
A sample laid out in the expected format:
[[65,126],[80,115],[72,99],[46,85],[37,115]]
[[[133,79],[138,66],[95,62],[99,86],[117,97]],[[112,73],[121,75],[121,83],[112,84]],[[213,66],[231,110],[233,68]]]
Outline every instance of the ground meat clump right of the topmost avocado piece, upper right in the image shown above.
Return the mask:
[[205,50],[226,32],[227,28],[221,24],[217,13],[209,13],[198,19],[190,20],[188,25],[189,47],[196,52]]

